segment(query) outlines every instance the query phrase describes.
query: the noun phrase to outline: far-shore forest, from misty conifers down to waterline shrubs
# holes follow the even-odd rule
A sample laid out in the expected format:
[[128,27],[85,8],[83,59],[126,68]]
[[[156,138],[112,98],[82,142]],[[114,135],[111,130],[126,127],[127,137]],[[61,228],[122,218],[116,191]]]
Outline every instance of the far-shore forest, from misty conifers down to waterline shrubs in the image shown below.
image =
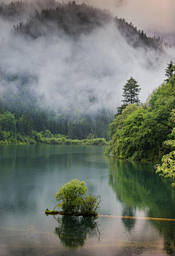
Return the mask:
[[112,114],[105,109],[94,116],[78,112],[68,115],[44,111],[36,104],[27,109],[16,109],[13,104],[20,104],[20,97],[11,104],[7,106],[6,98],[1,96],[1,144],[106,144],[109,139],[108,124]]

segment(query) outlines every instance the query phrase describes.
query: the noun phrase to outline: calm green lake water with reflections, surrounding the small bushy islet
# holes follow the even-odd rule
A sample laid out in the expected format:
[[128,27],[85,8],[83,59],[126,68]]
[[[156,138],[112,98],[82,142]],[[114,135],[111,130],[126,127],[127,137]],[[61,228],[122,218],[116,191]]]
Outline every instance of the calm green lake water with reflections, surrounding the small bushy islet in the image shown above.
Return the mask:
[[[0,256],[175,255],[175,190],[148,163],[106,158],[104,147],[0,146]],[[98,219],[53,217],[71,179],[101,195]],[[125,218],[136,217],[136,218]]]

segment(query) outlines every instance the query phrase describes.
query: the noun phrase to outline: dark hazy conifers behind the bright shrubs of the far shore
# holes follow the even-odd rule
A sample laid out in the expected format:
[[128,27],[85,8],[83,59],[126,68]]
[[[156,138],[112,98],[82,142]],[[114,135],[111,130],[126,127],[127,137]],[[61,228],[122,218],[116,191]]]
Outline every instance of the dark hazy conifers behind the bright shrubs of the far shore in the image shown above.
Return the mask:
[[[26,94],[26,92],[23,93],[23,98],[27,97]],[[42,109],[36,108],[36,103],[32,105],[28,104],[27,101],[24,103],[21,97],[15,98],[15,96],[12,97],[9,94],[5,98],[3,104],[4,112],[1,114],[0,111],[2,131],[13,131],[20,133],[21,136],[30,137],[32,137],[33,131],[36,131],[42,132],[42,137],[46,138],[62,134],[62,136],[68,136],[69,139],[105,138],[109,140],[108,125],[112,122],[113,113],[107,109],[101,109],[93,115],[79,113],[78,109],[70,109],[69,114],[57,111],[50,112],[49,110],[42,111]],[[15,118],[16,124],[14,128],[12,123],[7,122],[6,112]],[[39,143],[42,143],[42,141],[39,141]]]

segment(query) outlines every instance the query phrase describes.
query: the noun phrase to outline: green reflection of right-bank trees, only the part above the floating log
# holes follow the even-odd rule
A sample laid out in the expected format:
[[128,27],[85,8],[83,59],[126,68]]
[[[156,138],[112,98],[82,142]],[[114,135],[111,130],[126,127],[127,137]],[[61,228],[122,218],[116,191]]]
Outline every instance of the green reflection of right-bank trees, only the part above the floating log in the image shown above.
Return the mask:
[[152,163],[109,158],[109,185],[117,199],[129,207],[127,211],[137,209],[147,217],[175,218],[175,190],[170,186],[171,180],[161,180]]

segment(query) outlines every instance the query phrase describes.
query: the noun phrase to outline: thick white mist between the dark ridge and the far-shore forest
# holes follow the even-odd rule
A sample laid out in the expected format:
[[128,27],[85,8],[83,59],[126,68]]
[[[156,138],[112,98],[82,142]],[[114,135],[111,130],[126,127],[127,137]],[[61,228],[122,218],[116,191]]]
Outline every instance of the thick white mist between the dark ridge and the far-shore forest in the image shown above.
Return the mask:
[[[123,8],[128,1],[117,2]],[[39,106],[53,111],[73,108],[93,113],[102,107],[115,111],[131,77],[140,85],[139,98],[144,102],[163,82],[164,69],[174,58],[173,48],[160,54],[131,47],[113,22],[77,40],[57,33],[34,40],[13,36],[14,21],[1,18],[0,24],[0,70],[5,74],[1,75],[0,94],[10,90],[17,95],[19,79],[31,77],[26,90],[32,91]],[[20,78],[9,80],[8,76]]]

